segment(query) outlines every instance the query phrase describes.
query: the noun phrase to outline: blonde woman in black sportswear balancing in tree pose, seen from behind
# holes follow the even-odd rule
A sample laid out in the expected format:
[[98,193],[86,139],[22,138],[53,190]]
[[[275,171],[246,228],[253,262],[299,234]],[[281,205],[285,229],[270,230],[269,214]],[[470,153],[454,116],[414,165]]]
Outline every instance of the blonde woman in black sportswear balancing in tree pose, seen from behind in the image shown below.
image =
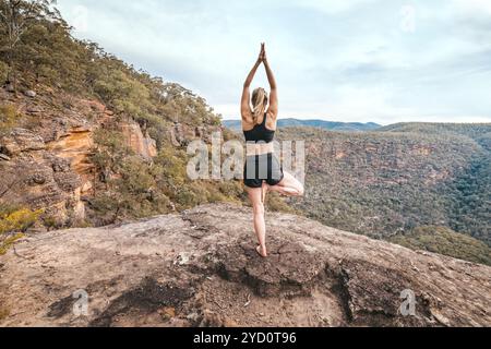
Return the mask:
[[[270,81],[270,97],[264,88],[256,88],[250,95],[250,86],[258,68],[264,63]],[[252,101],[252,108],[251,104]],[[270,103],[270,105],[268,105]],[[260,245],[258,253],[267,257],[266,224],[264,202],[267,192],[277,192],[287,196],[303,196],[303,185],[290,173],[284,172],[274,154],[273,141],[278,118],[278,93],[276,81],[270,68],[265,45],[243,85],[242,130],[248,142],[247,164],[244,166],[244,185],[254,212],[254,230]]]

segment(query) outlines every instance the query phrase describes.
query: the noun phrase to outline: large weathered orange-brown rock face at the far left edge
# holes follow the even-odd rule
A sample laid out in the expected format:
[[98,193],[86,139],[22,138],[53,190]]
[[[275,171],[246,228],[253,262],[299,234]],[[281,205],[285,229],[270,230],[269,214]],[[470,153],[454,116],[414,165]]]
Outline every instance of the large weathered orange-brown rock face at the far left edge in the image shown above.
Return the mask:
[[36,98],[0,91],[0,99],[22,116],[19,128],[0,136],[0,205],[43,208],[57,225],[82,221],[82,198],[92,194],[96,176],[94,132],[112,123],[113,113],[98,101],[49,88]]

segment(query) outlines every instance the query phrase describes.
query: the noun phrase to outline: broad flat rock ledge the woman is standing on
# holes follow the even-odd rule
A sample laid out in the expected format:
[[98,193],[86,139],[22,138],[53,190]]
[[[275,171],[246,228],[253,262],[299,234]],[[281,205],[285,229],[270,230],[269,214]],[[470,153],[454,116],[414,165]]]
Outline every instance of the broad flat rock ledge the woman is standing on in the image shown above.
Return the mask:
[[251,215],[206,205],[29,237],[0,257],[0,325],[491,325],[490,267],[282,214],[263,260]]

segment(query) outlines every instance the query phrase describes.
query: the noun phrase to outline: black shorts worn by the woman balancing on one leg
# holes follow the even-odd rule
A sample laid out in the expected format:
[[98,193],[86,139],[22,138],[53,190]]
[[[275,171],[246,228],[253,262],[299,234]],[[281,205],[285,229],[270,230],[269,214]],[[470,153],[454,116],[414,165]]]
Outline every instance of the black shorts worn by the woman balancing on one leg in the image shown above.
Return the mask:
[[248,156],[243,168],[243,182],[249,188],[261,188],[263,182],[277,185],[285,174],[279,160],[273,154]]

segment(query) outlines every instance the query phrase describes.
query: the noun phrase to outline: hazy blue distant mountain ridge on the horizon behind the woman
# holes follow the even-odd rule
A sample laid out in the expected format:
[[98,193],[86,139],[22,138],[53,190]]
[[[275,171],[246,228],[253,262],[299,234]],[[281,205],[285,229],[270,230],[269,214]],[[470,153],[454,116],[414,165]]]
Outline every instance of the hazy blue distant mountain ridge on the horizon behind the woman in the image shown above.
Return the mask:
[[[224,120],[223,125],[227,129],[233,131],[240,131],[242,129],[242,123],[240,120]],[[298,120],[298,119],[280,119],[278,120],[279,128],[316,128],[328,131],[343,131],[343,132],[362,132],[362,131],[374,131],[382,125],[374,122],[337,122],[337,121],[324,121],[324,120]]]

